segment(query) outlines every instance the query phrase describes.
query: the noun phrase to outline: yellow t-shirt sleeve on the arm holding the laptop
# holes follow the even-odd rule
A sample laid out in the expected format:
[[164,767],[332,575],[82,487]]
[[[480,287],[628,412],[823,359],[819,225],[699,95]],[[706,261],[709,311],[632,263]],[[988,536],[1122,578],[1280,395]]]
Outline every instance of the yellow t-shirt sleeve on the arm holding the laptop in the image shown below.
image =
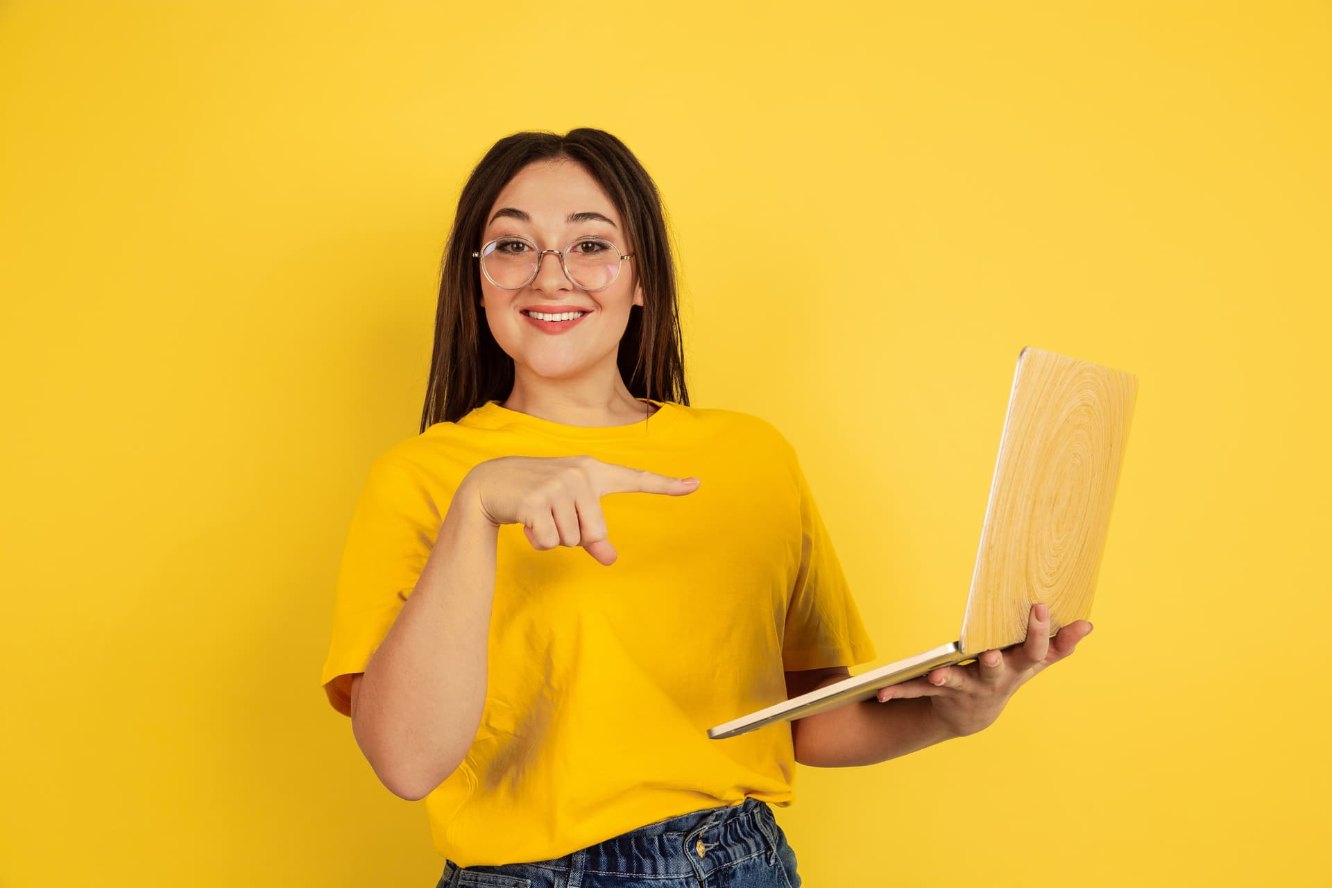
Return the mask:
[[801,567],[786,611],[782,666],[793,672],[868,663],[878,654],[838,562],[795,450],[785,441],[801,498]]

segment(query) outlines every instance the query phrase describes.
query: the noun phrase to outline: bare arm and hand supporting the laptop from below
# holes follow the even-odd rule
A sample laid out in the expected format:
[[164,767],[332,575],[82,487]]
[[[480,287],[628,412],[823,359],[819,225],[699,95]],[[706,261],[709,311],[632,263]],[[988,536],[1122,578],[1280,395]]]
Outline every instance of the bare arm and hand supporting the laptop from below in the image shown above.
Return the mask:
[[[984,651],[967,666],[944,666],[880,688],[878,700],[860,700],[791,722],[795,760],[821,768],[875,764],[975,734],[994,724],[1019,687],[1071,655],[1088,632],[1091,623],[1076,620],[1051,639],[1050,611],[1035,604],[1027,638],[1020,644]],[[787,672],[787,696],[847,675],[844,666]]]

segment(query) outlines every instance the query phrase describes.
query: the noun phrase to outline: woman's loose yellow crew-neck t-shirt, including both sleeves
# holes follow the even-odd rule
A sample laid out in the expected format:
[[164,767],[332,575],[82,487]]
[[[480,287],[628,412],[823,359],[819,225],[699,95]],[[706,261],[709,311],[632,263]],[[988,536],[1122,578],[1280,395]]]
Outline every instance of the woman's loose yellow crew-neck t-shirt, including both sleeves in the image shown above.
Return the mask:
[[785,700],[787,670],[876,656],[786,438],[745,413],[651,403],[645,421],[582,427],[492,401],[370,466],[321,678],[344,715],[350,674],[412,595],[477,463],[589,454],[701,479],[687,495],[602,497],[609,567],[500,527],[481,726],[425,797],[434,845],[458,865],[559,857],[746,796],[789,805],[789,722],[725,740],[707,728]]

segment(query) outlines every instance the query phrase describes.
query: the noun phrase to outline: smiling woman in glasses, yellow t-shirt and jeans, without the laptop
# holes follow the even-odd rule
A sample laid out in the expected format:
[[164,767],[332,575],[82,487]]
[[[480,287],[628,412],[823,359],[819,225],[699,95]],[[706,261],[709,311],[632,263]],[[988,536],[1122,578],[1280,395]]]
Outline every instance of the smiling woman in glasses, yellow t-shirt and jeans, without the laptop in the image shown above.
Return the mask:
[[790,443],[689,405],[638,160],[582,128],[480,161],[421,433],[370,467],[322,674],[381,781],[425,799],[441,887],[799,885],[770,808],[791,804],[795,763],[983,728],[1087,628],[1048,644],[1043,620],[888,706],[709,739],[874,646]]

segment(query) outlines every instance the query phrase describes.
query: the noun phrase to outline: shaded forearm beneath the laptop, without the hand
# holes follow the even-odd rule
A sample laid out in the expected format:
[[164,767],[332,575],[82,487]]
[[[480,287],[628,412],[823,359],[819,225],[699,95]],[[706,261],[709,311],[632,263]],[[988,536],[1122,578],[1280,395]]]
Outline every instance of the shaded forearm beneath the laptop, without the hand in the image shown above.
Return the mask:
[[797,719],[791,730],[797,760],[817,768],[887,762],[958,736],[934,719],[930,700],[923,696],[848,703]]

